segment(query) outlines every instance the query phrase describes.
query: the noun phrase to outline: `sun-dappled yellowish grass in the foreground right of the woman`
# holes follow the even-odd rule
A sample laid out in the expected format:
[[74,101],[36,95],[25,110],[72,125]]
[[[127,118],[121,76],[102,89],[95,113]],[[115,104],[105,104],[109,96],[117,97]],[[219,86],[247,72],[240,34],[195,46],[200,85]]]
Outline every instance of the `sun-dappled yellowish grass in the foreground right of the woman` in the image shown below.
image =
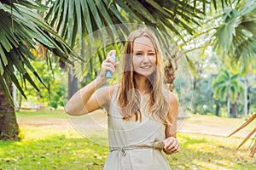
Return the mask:
[[177,169],[254,169],[255,158],[236,150],[239,138],[179,133],[182,150],[168,157]]

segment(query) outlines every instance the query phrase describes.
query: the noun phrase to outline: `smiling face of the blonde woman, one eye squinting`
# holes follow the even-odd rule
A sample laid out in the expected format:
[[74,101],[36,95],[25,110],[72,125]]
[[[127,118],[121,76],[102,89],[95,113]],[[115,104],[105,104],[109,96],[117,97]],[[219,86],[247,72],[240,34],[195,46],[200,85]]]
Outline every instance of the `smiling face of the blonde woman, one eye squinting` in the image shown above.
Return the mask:
[[156,52],[148,37],[138,37],[133,42],[132,65],[134,71],[149,77],[156,69]]

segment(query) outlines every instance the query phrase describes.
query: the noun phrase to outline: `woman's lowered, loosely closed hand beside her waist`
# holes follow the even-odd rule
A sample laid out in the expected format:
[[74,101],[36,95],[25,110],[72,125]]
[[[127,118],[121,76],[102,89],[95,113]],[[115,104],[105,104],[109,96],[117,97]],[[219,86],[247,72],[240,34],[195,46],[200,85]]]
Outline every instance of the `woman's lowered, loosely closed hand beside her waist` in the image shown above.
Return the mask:
[[166,152],[167,155],[177,153],[180,150],[179,143],[176,138],[174,137],[169,137],[164,140],[164,151]]

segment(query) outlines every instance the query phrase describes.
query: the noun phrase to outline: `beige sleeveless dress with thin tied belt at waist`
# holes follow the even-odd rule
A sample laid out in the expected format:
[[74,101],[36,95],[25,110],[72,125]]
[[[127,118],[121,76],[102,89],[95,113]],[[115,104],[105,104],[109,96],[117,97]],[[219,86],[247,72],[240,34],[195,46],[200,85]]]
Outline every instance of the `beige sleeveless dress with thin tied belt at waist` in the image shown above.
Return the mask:
[[166,170],[170,169],[162,151],[165,126],[144,115],[149,98],[141,96],[143,121],[123,121],[117,105],[117,89],[108,108],[109,155],[105,170]]

